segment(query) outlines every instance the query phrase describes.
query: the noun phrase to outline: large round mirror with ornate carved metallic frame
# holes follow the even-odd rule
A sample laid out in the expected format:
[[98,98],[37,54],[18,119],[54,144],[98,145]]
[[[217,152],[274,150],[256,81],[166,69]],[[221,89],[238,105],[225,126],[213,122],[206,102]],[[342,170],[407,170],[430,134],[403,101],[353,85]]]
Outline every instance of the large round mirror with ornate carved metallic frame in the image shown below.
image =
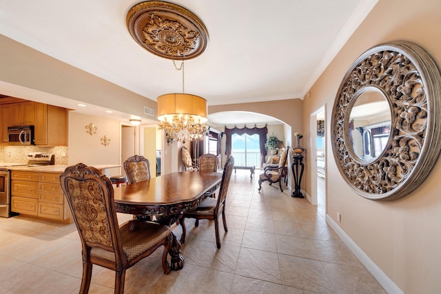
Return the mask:
[[413,43],[377,45],[351,65],[331,118],[332,151],[351,188],[372,200],[416,189],[441,149],[441,76]]

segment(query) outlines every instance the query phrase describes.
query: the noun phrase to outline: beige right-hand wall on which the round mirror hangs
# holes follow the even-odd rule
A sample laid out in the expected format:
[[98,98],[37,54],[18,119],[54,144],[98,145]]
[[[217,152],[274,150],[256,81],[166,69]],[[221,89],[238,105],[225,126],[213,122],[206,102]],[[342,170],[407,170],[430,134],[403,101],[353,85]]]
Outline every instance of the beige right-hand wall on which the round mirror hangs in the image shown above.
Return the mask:
[[[441,1],[380,0],[303,103],[304,131],[309,115],[327,105],[326,133],[334,98],[347,69],[365,50],[394,40],[412,41],[441,65]],[[306,139],[304,142],[308,142]],[[441,162],[410,195],[392,202],[358,196],[340,176],[327,136],[327,214],[404,293],[439,293],[441,279]],[[307,191],[311,179],[307,173]]]

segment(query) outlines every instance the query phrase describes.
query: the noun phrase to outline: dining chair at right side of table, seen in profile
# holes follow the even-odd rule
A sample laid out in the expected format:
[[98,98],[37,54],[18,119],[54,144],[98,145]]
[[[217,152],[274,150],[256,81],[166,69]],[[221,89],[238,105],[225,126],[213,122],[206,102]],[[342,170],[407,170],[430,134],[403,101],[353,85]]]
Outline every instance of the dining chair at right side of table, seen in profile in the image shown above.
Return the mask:
[[227,191],[229,186],[229,180],[232,176],[234,167],[234,158],[229,156],[225,167],[223,169],[222,180],[220,182],[219,196],[215,198],[205,198],[199,206],[191,211],[185,211],[183,217],[179,220],[182,226],[181,243],[185,243],[185,235],[187,229],[185,229],[185,218],[196,218],[195,227],[198,227],[199,220],[214,220],[214,229],[216,233],[216,246],[220,248],[219,238],[219,222],[218,218],[222,214],[223,228],[225,232],[228,231],[227,222],[225,220],[225,199],[227,198]]

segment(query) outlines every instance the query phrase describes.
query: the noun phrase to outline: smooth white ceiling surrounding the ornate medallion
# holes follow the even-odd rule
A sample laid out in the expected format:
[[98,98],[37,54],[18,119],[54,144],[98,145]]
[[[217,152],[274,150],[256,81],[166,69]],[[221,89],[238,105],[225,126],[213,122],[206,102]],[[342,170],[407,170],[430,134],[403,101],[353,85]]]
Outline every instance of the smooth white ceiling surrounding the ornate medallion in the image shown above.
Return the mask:
[[[185,61],[185,92],[209,105],[302,98],[377,1],[171,1],[209,33],[207,50]],[[130,36],[127,11],[139,2],[0,0],[0,33],[156,101],[182,91],[181,72]],[[229,118],[258,123],[209,121]]]

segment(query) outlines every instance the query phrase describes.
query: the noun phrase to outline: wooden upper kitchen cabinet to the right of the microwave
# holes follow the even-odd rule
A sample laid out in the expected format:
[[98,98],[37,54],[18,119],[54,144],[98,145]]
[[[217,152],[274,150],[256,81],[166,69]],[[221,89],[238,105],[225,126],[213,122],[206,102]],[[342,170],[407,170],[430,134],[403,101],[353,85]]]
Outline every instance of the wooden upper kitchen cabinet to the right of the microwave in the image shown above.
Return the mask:
[[68,112],[63,107],[36,103],[35,145],[68,145]]

